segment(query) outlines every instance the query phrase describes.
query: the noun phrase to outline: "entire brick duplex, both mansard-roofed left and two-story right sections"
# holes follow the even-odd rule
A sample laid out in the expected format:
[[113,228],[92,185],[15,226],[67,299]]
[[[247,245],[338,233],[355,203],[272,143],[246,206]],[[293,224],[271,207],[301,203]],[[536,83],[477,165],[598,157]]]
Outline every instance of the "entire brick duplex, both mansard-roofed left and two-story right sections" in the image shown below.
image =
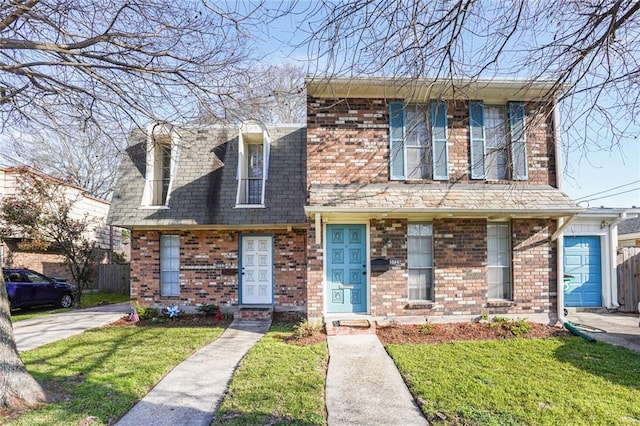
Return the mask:
[[555,322],[581,209],[551,88],[313,79],[306,127],[150,126],[109,214],[132,231],[132,300]]

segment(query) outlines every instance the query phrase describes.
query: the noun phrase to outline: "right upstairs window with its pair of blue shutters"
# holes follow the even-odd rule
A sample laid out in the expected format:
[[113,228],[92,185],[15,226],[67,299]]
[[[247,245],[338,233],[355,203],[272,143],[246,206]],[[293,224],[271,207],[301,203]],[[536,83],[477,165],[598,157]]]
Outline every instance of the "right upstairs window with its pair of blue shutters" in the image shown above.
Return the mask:
[[527,180],[525,104],[469,103],[471,178]]

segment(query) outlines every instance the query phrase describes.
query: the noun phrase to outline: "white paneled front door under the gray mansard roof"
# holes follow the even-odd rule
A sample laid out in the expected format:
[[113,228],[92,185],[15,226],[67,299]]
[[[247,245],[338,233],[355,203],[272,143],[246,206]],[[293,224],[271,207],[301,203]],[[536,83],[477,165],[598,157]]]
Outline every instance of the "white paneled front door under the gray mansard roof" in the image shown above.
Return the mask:
[[273,237],[242,237],[240,303],[273,303]]

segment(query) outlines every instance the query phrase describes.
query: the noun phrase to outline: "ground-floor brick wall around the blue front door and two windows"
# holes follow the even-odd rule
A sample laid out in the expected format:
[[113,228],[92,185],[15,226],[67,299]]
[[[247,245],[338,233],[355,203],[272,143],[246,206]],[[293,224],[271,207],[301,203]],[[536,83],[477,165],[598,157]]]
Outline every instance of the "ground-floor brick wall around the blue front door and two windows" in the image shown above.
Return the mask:
[[[370,258],[398,261],[386,272],[370,277],[373,316],[460,316],[555,314],[556,244],[549,237],[553,220],[518,219],[511,223],[513,300],[487,299],[487,221],[437,219],[433,221],[435,297],[430,302],[408,301],[407,221],[371,220]],[[315,245],[315,225],[309,223],[307,252],[308,315],[323,315],[322,250]]]

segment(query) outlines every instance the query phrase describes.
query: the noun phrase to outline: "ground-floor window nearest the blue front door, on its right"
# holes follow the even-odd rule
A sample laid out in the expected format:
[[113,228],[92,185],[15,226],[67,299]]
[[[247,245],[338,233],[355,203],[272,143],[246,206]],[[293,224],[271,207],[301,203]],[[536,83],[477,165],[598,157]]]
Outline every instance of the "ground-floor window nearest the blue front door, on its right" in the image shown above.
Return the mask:
[[433,300],[433,225],[407,224],[409,300]]

